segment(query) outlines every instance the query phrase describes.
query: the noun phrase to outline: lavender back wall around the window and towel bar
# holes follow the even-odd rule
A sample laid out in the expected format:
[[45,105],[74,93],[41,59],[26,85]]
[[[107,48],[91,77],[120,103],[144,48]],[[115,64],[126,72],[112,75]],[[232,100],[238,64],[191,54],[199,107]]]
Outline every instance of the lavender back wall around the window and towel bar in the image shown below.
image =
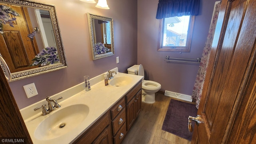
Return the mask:
[[199,64],[166,62],[174,58],[201,58],[215,0],[201,0],[196,16],[190,52],[157,51],[159,20],[156,17],[158,0],[138,0],[138,64],[145,70],[145,78],[162,85],[161,90],[192,94]]

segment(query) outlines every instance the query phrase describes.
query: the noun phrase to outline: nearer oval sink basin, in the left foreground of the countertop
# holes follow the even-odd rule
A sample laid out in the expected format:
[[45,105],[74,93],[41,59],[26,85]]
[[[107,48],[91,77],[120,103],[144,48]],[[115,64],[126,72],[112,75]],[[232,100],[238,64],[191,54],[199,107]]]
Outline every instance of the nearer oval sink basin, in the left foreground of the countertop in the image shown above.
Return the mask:
[[50,140],[71,132],[83,122],[89,113],[89,107],[76,104],[52,112],[36,128],[34,137],[38,140]]

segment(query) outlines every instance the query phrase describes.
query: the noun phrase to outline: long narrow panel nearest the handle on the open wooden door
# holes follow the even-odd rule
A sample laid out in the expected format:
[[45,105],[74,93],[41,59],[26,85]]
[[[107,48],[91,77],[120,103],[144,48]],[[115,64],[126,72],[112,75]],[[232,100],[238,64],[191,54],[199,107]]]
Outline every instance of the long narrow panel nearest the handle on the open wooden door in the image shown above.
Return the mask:
[[[213,122],[217,113],[218,104],[220,102],[220,95],[224,90],[224,84],[226,83],[226,78],[228,77],[228,71],[230,70],[230,62],[233,57],[233,48],[236,45],[236,38],[239,32],[240,23],[242,20],[244,3],[237,5],[237,1],[230,2],[230,19],[228,20],[228,25],[226,28],[226,34],[224,36],[221,53],[218,57],[218,66],[216,66],[216,71],[213,77],[212,87],[208,94],[211,96],[208,98],[205,110],[206,118],[208,120],[210,131],[212,130]],[[232,18],[231,18],[232,17]]]

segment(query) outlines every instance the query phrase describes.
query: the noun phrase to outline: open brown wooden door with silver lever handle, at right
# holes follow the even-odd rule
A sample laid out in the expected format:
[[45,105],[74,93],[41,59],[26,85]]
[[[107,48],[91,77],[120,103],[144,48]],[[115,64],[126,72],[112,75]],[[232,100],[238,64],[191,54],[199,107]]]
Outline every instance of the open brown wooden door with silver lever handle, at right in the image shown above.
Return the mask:
[[256,143],[256,0],[223,0],[192,144]]

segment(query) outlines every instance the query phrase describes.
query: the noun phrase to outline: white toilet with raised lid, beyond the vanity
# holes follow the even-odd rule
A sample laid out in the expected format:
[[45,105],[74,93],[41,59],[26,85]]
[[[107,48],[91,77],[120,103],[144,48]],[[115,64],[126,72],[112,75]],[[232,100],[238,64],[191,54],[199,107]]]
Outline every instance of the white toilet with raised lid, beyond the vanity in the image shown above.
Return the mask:
[[147,104],[154,104],[155,100],[155,93],[158,92],[161,88],[161,84],[158,82],[154,82],[151,80],[144,80],[144,68],[142,64],[134,65],[130,68],[127,68],[128,74],[134,74],[143,76],[142,79],[142,102]]

